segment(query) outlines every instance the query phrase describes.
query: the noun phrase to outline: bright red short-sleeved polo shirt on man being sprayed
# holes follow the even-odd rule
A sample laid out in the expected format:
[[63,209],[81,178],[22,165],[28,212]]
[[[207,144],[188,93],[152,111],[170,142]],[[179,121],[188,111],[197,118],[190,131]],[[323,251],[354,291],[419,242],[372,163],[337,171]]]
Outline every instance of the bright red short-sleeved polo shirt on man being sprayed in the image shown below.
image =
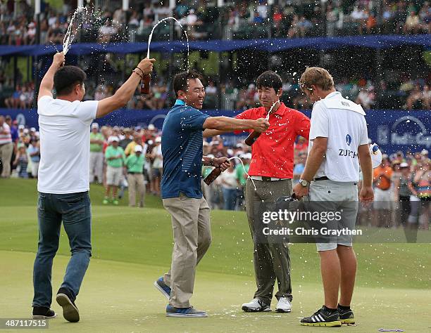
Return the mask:
[[[266,109],[262,106],[245,110],[236,118],[256,120],[266,115]],[[269,129],[251,146],[249,175],[293,178],[295,139],[297,136],[308,139],[310,119],[302,112],[281,103],[277,111],[270,115],[269,123]]]

